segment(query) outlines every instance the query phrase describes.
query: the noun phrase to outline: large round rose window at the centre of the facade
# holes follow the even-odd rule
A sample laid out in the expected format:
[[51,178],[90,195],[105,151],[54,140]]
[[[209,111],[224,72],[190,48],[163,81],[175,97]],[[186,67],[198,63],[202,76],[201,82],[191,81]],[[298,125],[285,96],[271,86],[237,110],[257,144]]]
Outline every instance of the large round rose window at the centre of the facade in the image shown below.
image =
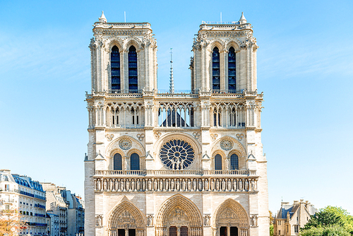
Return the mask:
[[169,170],[184,170],[195,159],[195,152],[191,145],[180,139],[167,141],[160,148],[160,160]]

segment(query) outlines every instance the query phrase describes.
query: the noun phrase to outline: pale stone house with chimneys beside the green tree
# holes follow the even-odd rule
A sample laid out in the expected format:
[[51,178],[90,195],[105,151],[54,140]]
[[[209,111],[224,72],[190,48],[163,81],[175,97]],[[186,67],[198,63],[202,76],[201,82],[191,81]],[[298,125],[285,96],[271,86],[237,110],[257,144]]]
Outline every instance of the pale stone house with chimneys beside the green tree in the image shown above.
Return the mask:
[[304,202],[303,199],[294,201],[293,205],[282,202],[273,223],[273,235],[299,235],[300,228],[304,228],[316,212],[316,208],[309,201]]

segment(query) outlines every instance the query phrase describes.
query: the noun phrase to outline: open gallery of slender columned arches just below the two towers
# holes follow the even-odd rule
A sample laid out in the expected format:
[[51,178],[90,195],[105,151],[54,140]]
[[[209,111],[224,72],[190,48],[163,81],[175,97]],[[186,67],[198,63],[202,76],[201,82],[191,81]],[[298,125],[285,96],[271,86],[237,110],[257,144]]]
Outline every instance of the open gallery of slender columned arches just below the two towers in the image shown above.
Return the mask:
[[[203,121],[203,125],[237,129],[256,125],[256,113],[261,111],[258,105],[244,102],[211,102],[209,105],[201,105],[193,101],[159,101],[155,103],[153,109],[157,112],[158,126],[189,127],[196,126],[194,114],[201,107],[203,111],[209,112],[210,117]],[[138,128],[151,124],[150,120],[145,121],[145,110],[146,105],[142,102],[108,102],[106,105],[101,102],[88,107],[90,128],[95,126]],[[152,114],[150,108],[148,114]]]

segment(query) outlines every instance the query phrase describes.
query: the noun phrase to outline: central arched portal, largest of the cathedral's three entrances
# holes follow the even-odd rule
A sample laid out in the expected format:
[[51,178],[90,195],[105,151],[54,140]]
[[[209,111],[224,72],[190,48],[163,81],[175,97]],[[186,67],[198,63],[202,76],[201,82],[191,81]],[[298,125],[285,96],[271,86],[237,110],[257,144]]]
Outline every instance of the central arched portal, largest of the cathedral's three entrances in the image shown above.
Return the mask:
[[202,216],[190,199],[176,194],[162,203],[156,218],[156,235],[180,232],[183,236],[201,236]]

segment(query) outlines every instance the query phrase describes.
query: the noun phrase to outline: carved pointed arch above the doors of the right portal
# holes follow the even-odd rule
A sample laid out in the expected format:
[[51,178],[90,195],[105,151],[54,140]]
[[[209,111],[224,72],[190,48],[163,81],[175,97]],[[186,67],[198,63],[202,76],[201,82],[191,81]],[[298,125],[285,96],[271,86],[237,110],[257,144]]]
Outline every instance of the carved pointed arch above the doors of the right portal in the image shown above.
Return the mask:
[[237,227],[239,229],[249,228],[249,216],[241,204],[234,199],[227,199],[217,207],[213,214],[213,227],[222,226]]

